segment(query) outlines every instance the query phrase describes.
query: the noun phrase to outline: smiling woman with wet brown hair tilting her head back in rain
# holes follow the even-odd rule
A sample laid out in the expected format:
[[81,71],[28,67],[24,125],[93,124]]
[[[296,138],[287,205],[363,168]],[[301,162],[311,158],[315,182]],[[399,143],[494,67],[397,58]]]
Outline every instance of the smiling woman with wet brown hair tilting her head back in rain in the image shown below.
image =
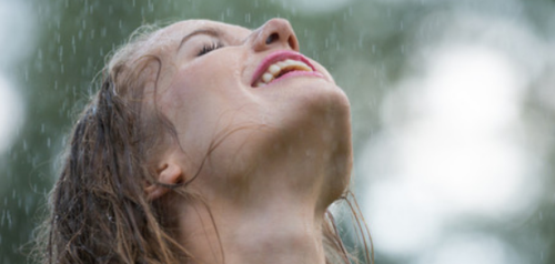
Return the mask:
[[287,21],[178,22],[120,49],[73,130],[46,263],[349,263],[349,101]]

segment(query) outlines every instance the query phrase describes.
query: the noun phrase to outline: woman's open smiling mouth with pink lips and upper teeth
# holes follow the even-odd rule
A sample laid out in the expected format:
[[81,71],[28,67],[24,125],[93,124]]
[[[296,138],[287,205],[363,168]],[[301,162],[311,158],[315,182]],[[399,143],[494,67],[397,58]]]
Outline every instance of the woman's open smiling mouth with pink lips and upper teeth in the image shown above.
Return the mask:
[[292,51],[278,51],[266,57],[260,64],[251,85],[259,88],[284,77],[306,74],[322,77],[302,54]]

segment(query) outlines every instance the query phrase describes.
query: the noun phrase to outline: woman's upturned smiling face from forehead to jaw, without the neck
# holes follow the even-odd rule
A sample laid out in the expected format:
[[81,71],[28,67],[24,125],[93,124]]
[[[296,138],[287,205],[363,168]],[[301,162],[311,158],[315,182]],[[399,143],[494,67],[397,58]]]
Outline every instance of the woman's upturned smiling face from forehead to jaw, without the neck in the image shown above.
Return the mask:
[[244,175],[295,153],[343,155],[346,167],[337,170],[349,174],[349,101],[322,65],[299,53],[287,21],[254,31],[182,21],[152,44],[162,57],[157,108],[175,126],[189,176],[209,153],[211,175]]

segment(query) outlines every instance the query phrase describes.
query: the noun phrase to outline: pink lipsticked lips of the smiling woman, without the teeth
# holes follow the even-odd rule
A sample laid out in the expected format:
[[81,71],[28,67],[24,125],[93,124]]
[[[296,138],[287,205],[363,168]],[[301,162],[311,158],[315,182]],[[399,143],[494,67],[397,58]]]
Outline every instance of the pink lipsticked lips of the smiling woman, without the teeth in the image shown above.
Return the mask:
[[[322,77],[322,74],[320,72],[316,72],[316,69],[314,68],[314,65],[312,65],[312,63],[309,61],[309,59],[306,59],[306,57],[302,55],[299,52],[289,51],[289,50],[280,50],[280,51],[275,51],[275,52],[270,53],[266,58],[264,58],[262,63],[260,63],[260,65],[254,71],[254,75],[252,77],[251,87],[254,87],[255,82],[262,77],[262,74],[268,70],[268,68],[271,64],[273,64],[278,61],[286,60],[286,59],[302,61],[302,62],[306,63],[306,65],[309,65],[313,70],[313,72],[299,72],[299,73],[290,72],[290,73],[284,74],[283,77],[287,77],[287,75],[290,75],[290,77],[292,77],[292,75]],[[295,74],[293,74],[293,73],[295,73]],[[283,77],[281,77],[281,78],[283,78]],[[274,79],[273,81],[276,81],[276,80],[278,79]]]

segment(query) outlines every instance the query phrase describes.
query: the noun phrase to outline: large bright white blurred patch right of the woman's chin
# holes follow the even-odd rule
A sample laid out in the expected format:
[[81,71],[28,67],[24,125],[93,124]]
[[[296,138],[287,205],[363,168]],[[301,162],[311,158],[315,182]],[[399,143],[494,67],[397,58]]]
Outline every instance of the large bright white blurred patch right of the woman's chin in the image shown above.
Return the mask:
[[[390,115],[387,135],[369,150],[371,164],[389,159],[381,171],[372,170],[383,177],[365,200],[376,248],[392,254],[435,246],[445,237],[443,227],[460,216],[518,214],[538,187],[526,177],[527,156],[514,139],[523,79],[513,62],[495,50],[451,47],[424,65],[426,73],[403,83],[385,106],[408,105],[411,118],[397,122]],[[445,251],[456,252],[452,247]],[[442,261],[447,253],[430,263],[453,263]],[[483,254],[464,260],[505,263]]]

